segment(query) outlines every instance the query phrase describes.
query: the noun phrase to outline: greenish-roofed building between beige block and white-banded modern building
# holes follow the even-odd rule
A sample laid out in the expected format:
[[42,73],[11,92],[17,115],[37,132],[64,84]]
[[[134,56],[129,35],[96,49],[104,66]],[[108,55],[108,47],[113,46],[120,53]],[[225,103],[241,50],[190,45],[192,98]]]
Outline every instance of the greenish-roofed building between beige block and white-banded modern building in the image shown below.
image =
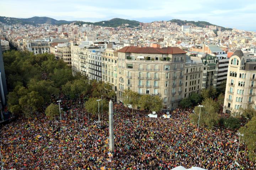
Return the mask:
[[218,58],[207,55],[201,58],[203,62],[202,89],[213,86],[216,89],[218,78]]

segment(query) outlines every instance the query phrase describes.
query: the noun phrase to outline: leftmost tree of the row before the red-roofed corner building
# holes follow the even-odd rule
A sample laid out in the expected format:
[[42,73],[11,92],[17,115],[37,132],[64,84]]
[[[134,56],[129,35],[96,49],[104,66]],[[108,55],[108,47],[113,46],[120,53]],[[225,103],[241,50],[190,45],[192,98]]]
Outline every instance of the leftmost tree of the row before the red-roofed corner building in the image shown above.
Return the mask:
[[133,107],[138,104],[139,94],[137,92],[134,92],[132,90],[124,90],[123,93],[123,102],[125,105],[132,106],[132,113],[133,113]]

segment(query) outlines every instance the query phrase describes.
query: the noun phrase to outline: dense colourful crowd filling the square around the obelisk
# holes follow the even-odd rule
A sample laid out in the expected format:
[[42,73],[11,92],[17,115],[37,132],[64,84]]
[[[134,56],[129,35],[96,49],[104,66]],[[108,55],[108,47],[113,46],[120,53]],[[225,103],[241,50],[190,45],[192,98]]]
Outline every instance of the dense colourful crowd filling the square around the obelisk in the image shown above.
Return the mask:
[[[100,129],[95,123],[97,115],[87,113],[82,104],[64,100],[62,107],[67,111],[61,123],[37,114],[35,119],[18,119],[1,127],[5,168],[169,170],[182,165],[226,170],[234,163],[235,132],[197,129],[188,119],[191,110],[177,108],[170,119],[148,118],[146,113],[131,113],[122,104],[114,104],[115,151],[109,153],[108,113],[103,114],[106,128]],[[240,168],[235,165],[233,169],[256,169],[243,142],[237,162]]]

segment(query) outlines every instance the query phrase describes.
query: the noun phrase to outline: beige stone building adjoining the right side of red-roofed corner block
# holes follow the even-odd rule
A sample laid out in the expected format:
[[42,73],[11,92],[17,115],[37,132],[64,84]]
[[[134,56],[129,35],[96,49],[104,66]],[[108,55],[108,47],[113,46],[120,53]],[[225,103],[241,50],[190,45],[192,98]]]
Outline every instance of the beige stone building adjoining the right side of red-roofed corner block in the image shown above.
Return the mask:
[[193,92],[201,93],[203,78],[203,63],[199,57],[188,56],[185,63],[183,97],[189,97]]

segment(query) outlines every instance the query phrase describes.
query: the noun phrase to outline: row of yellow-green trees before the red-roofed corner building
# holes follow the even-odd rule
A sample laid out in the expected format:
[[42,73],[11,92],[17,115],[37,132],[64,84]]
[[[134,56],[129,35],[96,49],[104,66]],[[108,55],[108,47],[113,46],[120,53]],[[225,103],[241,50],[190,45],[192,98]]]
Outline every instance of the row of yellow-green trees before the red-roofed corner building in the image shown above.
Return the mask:
[[123,102],[125,105],[130,105],[133,108],[139,107],[141,111],[145,109],[159,112],[162,110],[162,99],[160,96],[140,95],[132,90],[124,90]]

